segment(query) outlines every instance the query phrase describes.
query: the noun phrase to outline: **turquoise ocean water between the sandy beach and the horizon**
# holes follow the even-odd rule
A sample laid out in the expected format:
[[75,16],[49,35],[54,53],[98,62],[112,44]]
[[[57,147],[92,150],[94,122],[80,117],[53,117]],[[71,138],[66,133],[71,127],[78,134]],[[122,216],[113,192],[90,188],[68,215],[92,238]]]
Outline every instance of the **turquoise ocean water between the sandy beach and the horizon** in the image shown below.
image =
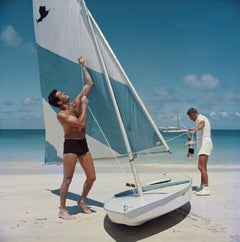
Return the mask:
[[[188,164],[186,134],[163,133],[172,154],[147,158],[147,162]],[[240,130],[212,130],[213,152],[209,164],[240,165]],[[195,149],[196,150],[196,149]],[[0,162],[44,162],[44,130],[0,130]],[[197,161],[195,155],[194,160]],[[106,161],[109,162],[109,161]],[[140,161],[143,162],[143,161]]]

